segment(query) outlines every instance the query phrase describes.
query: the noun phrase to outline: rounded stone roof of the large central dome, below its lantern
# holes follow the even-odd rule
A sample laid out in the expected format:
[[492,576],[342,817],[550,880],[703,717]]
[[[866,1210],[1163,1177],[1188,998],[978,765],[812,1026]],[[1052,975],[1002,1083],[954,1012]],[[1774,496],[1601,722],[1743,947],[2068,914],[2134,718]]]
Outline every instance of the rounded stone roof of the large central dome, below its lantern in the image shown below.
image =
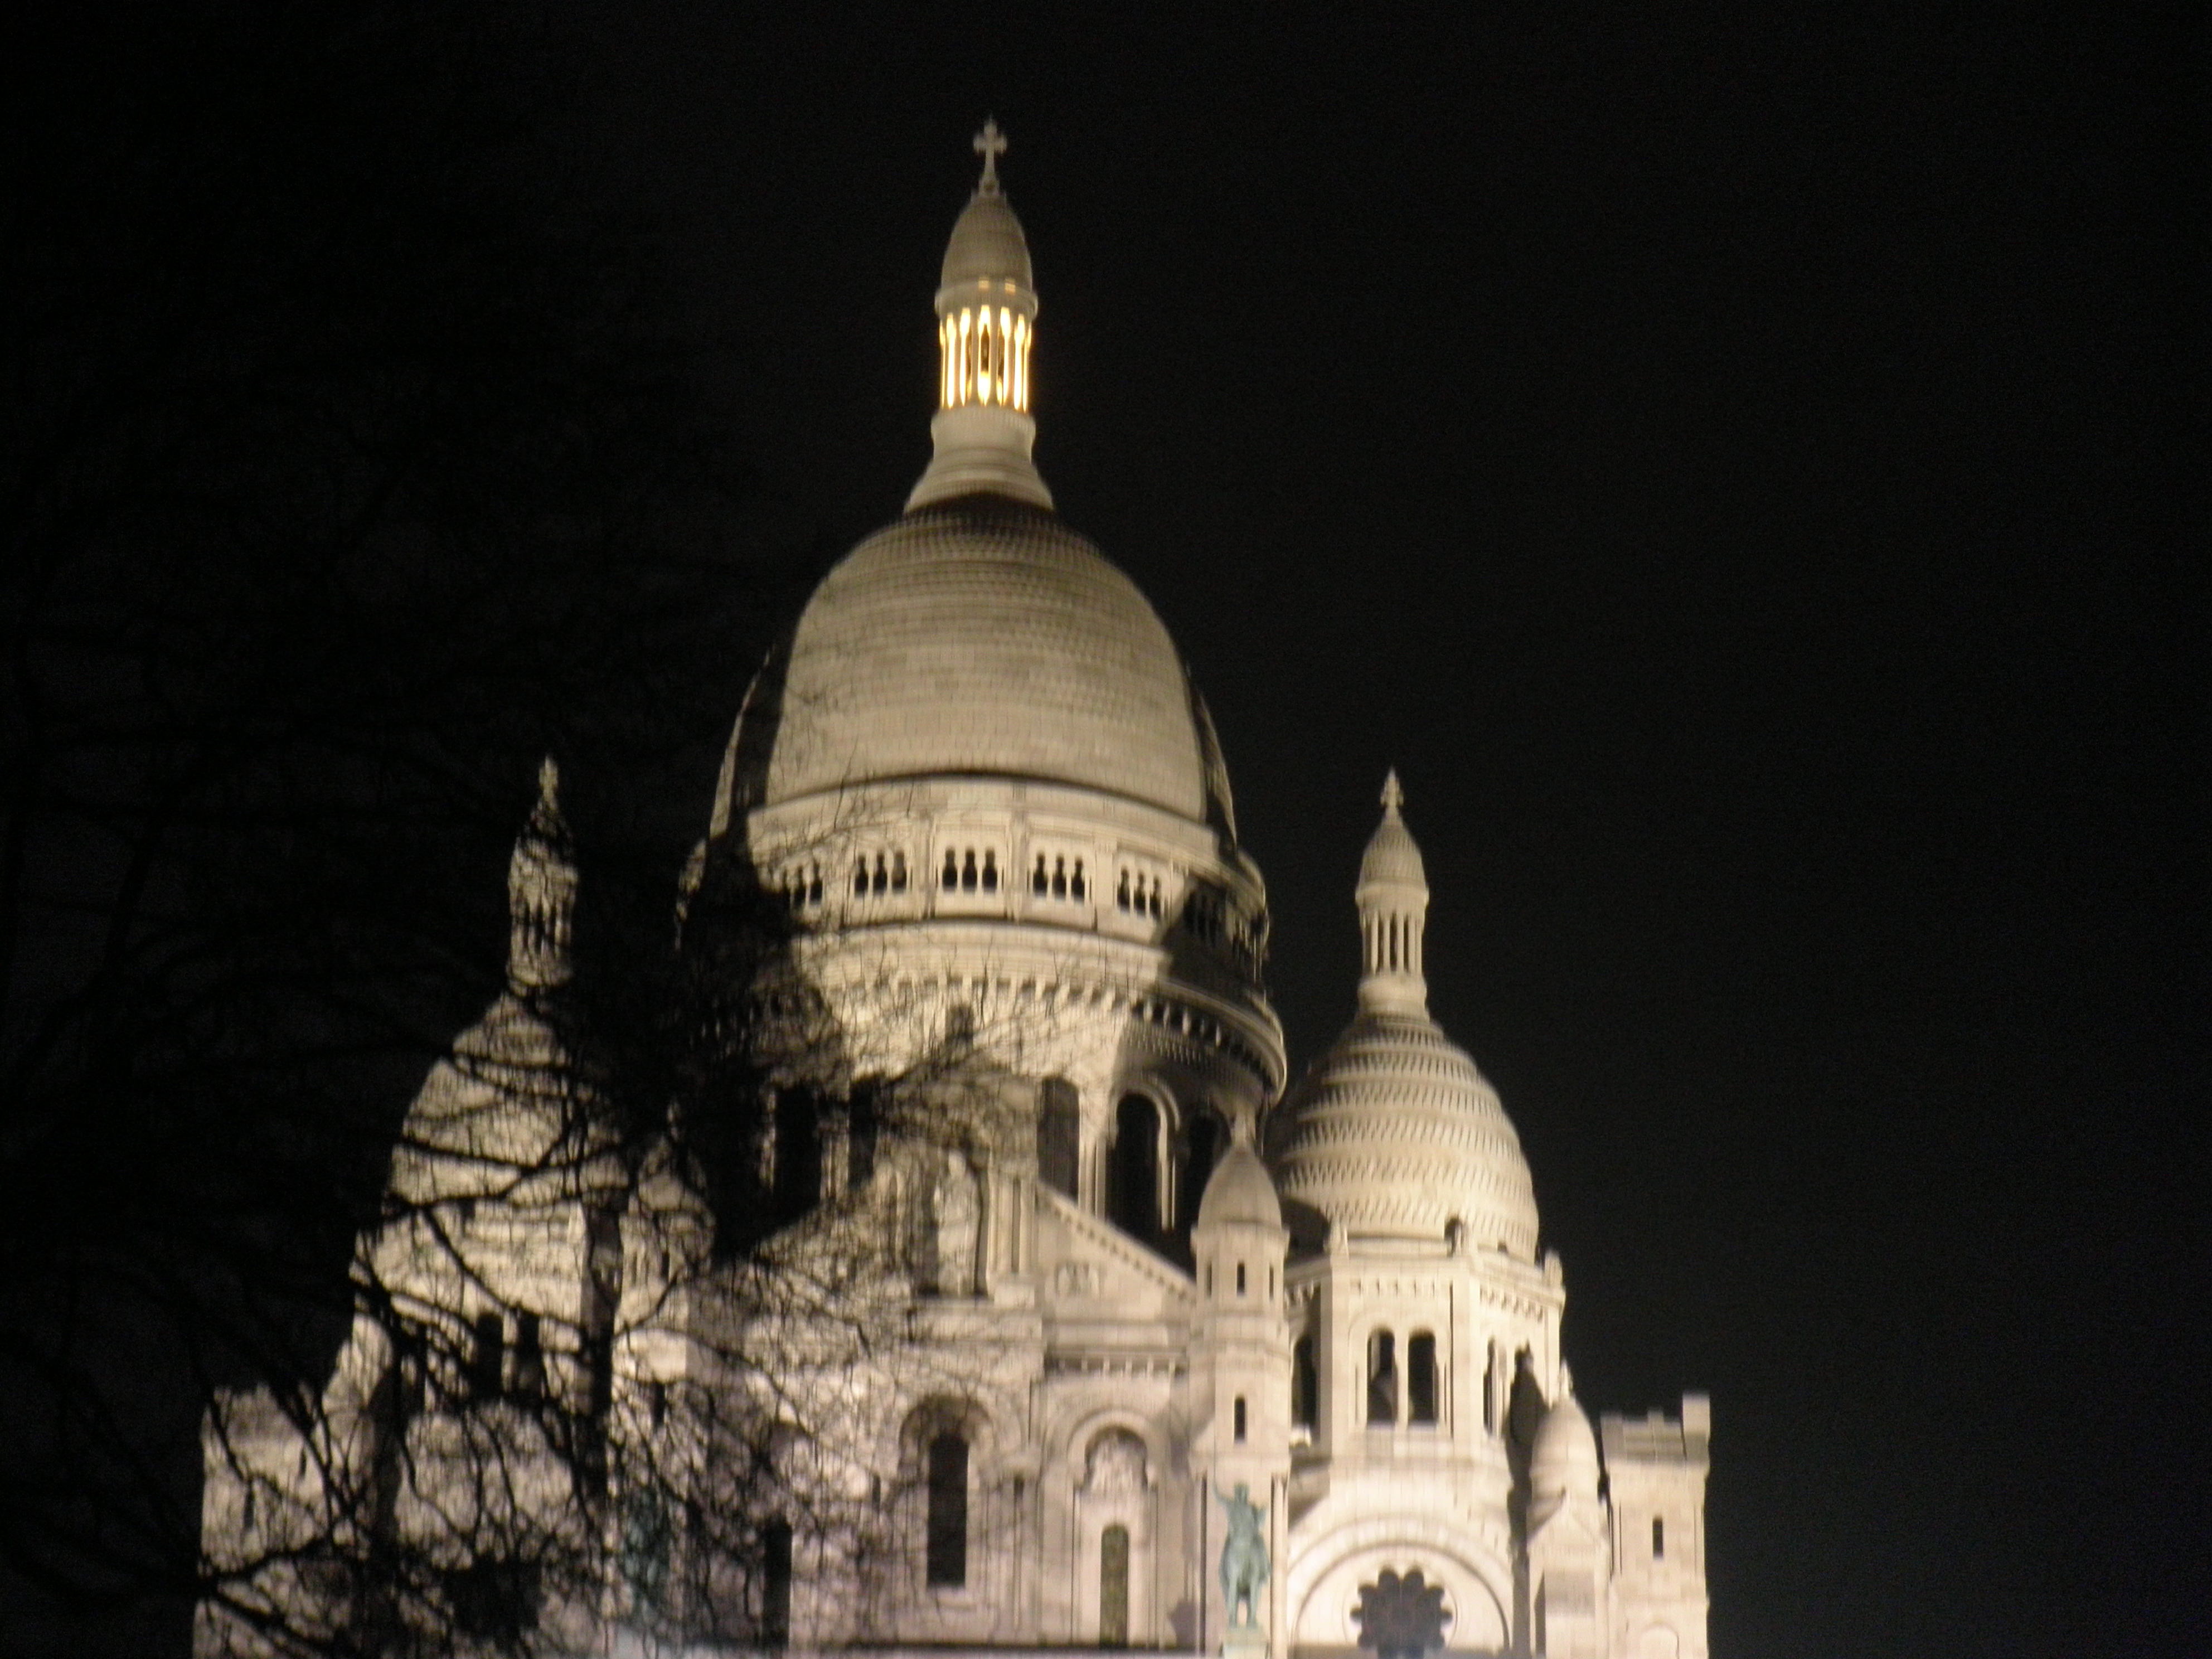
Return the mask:
[[814,591],[792,637],[768,801],[1000,774],[1206,818],[1190,686],[1152,606],[1046,511],[907,513]]

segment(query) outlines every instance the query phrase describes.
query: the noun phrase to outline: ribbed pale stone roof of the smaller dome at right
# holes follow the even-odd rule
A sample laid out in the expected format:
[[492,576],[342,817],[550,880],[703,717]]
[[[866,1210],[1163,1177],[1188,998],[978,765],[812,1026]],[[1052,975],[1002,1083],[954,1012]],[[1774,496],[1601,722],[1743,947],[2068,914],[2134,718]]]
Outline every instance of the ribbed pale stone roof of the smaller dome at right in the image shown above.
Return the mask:
[[1285,1099],[1276,1183],[1352,1234],[1535,1259],[1535,1186],[1475,1062],[1420,1013],[1363,1011]]

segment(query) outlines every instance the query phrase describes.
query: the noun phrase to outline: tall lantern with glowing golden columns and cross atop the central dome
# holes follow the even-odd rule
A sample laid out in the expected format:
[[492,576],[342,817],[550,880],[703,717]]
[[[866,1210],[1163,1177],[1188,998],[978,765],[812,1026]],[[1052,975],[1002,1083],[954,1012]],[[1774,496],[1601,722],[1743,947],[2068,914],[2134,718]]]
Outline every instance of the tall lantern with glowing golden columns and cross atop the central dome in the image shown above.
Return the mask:
[[1053,504],[1029,458],[1037,438],[1029,416],[1037,290],[1022,221],[998,186],[1006,137],[995,119],[982,124],[975,150],[982,179],[953,223],[938,272],[938,414],[929,422],[936,453],[907,511],[973,493]]

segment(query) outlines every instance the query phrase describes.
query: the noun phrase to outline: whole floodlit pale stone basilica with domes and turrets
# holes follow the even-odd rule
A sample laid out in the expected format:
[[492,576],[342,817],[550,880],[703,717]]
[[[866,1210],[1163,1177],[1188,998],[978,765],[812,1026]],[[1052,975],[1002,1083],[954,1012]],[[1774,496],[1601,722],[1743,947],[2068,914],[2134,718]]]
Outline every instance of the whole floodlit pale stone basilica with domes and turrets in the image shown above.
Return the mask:
[[1031,458],[1002,148],[933,458],[770,650],[681,878],[708,1060],[646,1137],[604,1108],[549,763],[327,1385],[208,1411],[206,1659],[1705,1659],[1710,1405],[1577,1402],[1396,776],[1290,1068],[1206,703]]

